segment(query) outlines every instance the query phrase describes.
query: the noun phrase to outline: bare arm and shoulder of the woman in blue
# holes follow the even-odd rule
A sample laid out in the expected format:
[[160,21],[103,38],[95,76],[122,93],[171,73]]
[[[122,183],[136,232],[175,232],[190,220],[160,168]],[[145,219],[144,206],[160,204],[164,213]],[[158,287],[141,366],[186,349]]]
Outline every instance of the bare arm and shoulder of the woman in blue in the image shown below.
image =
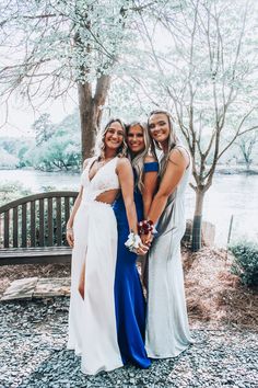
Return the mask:
[[[148,156],[144,160],[145,163],[156,162],[153,157]],[[157,171],[148,171],[143,175],[143,190],[142,190],[142,201],[143,201],[143,217],[146,219],[154,193],[157,189]]]

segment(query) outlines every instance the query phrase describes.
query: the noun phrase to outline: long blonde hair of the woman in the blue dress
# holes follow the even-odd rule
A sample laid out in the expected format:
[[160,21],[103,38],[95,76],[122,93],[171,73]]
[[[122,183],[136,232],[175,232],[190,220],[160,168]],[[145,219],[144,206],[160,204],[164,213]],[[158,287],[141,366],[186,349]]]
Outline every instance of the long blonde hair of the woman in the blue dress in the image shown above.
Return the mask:
[[128,136],[130,128],[134,127],[139,125],[142,129],[142,134],[143,134],[143,139],[144,139],[144,149],[138,153],[137,156],[134,156],[134,158],[132,158],[132,153],[128,147],[128,159],[131,162],[132,168],[134,169],[136,173],[137,173],[137,186],[140,190],[140,192],[142,192],[144,184],[143,184],[143,173],[144,173],[144,160],[145,157],[148,155],[150,155],[150,146],[151,146],[151,138],[148,132],[148,127],[145,123],[141,123],[141,122],[133,122],[129,125],[127,125],[126,127],[126,134]]

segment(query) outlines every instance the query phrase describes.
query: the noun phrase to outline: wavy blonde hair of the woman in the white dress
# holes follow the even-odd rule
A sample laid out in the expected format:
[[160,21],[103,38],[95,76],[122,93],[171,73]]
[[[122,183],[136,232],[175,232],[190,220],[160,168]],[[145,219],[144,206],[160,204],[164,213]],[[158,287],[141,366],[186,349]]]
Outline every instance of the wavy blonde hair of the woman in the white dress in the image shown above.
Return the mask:
[[125,134],[124,139],[122,139],[122,144],[117,150],[117,156],[119,158],[127,156],[126,125],[122,123],[122,121],[120,118],[112,118],[105,125],[105,127],[102,130],[99,130],[99,133],[97,134],[96,144],[94,147],[94,156],[97,157],[98,159],[105,158],[105,147],[106,147],[105,146],[105,136],[113,123],[119,123],[121,125],[124,134]]

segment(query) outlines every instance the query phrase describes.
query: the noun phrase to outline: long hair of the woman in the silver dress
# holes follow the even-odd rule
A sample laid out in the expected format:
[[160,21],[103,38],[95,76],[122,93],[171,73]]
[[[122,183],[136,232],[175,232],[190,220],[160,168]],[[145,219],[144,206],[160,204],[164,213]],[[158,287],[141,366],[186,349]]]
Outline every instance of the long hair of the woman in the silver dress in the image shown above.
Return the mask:
[[156,151],[155,151],[155,148],[157,148],[159,150],[162,150],[160,144],[155,140],[153,140],[151,134],[150,134],[150,118],[151,116],[153,116],[154,114],[164,114],[166,117],[167,117],[167,121],[168,121],[168,127],[169,127],[169,136],[168,136],[168,145],[167,145],[167,153],[164,153],[161,158],[161,161],[160,161],[160,175],[163,176],[164,172],[165,172],[165,169],[166,169],[166,164],[168,162],[168,158],[169,158],[169,155],[171,155],[171,151],[179,145],[179,139],[178,137],[176,136],[176,133],[173,128],[173,117],[171,115],[169,112],[165,111],[165,110],[155,110],[155,111],[152,111],[150,114],[149,114],[149,117],[148,117],[148,129],[149,129],[149,135],[151,137],[151,149],[152,149],[152,152],[153,155],[156,157]]

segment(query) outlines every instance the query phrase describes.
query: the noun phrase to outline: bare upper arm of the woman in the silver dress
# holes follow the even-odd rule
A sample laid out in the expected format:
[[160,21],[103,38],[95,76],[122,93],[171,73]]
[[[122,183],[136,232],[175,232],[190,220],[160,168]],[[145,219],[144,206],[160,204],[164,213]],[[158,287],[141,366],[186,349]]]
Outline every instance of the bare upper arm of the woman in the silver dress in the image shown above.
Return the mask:
[[166,171],[148,215],[148,219],[151,219],[154,224],[161,217],[169,195],[175,191],[188,164],[189,156],[186,150],[174,149],[171,152]]

